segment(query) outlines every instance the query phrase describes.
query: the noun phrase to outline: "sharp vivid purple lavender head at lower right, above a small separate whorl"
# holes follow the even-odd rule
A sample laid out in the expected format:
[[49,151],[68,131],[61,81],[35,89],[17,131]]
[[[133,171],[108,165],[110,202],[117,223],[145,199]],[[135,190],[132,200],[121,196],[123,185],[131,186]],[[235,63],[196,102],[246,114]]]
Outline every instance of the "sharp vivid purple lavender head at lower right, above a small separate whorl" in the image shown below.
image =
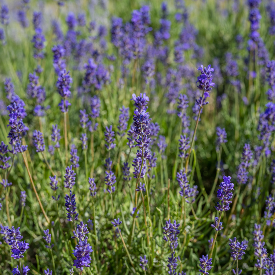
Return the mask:
[[223,182],[220,183],[220,189],[218,189],[217,198],[221,200],[221,204],[217,202],[215,209],[217,211],[228,211],[230,209],[229,204],[231,203],[230,199],[233,197],[231,192],[234,187],[234,184],[230,181],[231,177],[223,176]]

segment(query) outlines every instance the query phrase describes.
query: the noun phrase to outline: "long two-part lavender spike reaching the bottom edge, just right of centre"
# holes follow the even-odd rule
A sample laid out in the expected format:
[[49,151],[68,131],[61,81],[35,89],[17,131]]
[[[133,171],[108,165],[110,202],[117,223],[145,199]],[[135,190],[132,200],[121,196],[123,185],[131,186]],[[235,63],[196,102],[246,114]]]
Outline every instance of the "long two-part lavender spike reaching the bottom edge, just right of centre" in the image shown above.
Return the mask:
[[171,223],[171,220],[169,219],[168,221],[165,222],[165,226],[163,227],[163,240],[168,242],[169,248],[171,251],[171,257],[168,257],[168,269],[169,269],[169,274],[170,275],[176,275],[176,268],[178,266],[177,263],[177,258],[175,257],[175,249],[178,247],[178,234],[180,233],[179,231],[179,226],[180,223],[176,223],[174,221]]

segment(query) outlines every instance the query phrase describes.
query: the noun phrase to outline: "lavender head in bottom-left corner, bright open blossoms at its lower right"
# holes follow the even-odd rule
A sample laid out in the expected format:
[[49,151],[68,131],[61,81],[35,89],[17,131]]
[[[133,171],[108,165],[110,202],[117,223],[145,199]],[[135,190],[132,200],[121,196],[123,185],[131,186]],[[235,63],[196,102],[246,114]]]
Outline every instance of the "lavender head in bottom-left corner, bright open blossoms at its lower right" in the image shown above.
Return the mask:
[[21,236],[21,233],[19,231],[20,227],[17,229],[14,229],[14,226],[12,226],[11,229],[8,229],[8,236],[9,236],[9,243],[8,245],[11,245],[11,251],[14,259],[19,259],[24,257],[24,253],[29,248],[29,244],[26,243],[26,241],[22,242],[20,240],[23,239],[23,236]]

